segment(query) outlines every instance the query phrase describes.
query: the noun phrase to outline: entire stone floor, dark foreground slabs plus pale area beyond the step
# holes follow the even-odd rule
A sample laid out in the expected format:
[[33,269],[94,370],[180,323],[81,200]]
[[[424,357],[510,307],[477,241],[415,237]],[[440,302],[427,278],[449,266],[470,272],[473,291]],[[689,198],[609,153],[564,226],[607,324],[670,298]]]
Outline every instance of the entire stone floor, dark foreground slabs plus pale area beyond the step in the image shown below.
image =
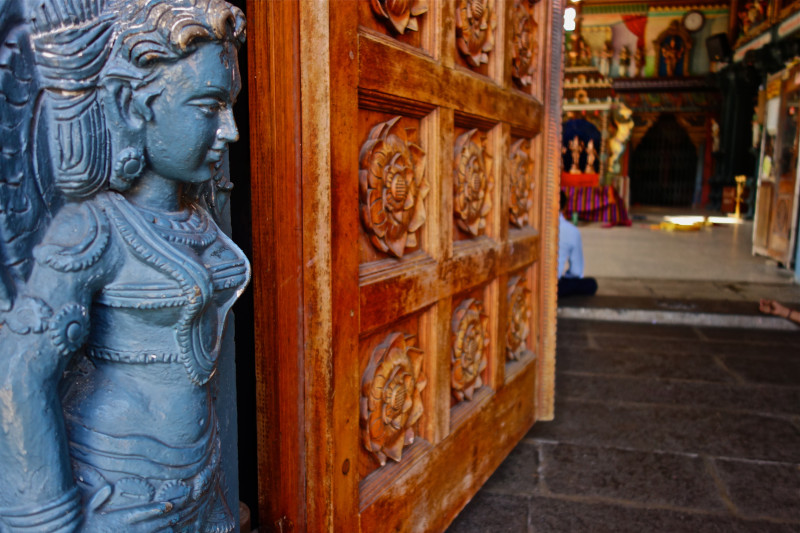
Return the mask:
[[560,302],[556,418],[449,533],[800,532],[800,330],[756,303],[800,286],[752,223],[652,229],[667,214],[581,225],[600,289]]

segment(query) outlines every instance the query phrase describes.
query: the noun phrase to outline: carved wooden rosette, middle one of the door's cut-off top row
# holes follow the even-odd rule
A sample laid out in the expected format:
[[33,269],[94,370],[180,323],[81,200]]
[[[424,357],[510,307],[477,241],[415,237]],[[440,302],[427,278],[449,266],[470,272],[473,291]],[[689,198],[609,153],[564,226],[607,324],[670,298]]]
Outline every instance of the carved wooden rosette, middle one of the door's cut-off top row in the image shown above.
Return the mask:
[[497,16],[492,0],[459,0],[456,8],[456,45],[467,63],[480,67],[489,62],[494,48]]

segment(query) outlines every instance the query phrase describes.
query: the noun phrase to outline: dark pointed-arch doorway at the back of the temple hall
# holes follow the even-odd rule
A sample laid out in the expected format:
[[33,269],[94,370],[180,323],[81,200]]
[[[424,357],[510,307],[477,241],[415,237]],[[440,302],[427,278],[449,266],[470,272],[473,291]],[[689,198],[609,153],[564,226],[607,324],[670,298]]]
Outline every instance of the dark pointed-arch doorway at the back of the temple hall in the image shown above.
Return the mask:
[[631,157],[631,203],[689,207],[697,176],[697,151],[675,115],[664,113]]

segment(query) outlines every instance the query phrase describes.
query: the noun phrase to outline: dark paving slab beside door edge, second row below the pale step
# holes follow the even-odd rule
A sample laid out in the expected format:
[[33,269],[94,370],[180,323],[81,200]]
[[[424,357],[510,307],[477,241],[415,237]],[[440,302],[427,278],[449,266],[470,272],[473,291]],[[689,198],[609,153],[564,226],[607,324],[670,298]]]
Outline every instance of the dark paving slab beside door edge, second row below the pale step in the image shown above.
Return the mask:
[[686,357],[682,354],[652,351],[623,352],[614,350],[582,350],[574,357],[557,362],[559,372],[627,375],[694,379],[713,382],[735,382],[736,376],[725,370],[713,357]]

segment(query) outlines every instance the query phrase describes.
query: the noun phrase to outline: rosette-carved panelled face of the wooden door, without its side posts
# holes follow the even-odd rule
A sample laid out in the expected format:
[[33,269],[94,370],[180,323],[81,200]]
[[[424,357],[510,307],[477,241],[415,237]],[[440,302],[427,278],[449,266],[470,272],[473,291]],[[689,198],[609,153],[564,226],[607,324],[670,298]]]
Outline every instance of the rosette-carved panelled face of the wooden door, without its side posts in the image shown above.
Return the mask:
[[[361,531],[436,530],[502,459],[497,441],[516,442],[535,417],[543,106],[535,68],[512,83],[506,29],[539,8],[490,1],[484,31],[460,3],[432,3],[413,40],[366,22],[365,3],[358,510]],[[447,20],[455,46],[438,41]]]

